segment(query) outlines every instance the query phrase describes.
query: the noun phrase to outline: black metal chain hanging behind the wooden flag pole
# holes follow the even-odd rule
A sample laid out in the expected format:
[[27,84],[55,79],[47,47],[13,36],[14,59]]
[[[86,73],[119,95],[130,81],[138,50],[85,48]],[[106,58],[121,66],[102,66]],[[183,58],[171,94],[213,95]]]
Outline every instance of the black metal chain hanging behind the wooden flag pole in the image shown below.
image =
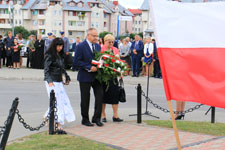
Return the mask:
[[[136,88],[136,89],[137,89],[137,88]],[[156,109],[159,109],[159,110],[163,111],[164,113],[169,113],[169,112],[170,112],[168,109],[163,108],[163,107],[159,106],[158,104],[154,103],[149,97],[147,97],[147,96],[145,95],[145,92],[144,92],[143,90],[142,90],[142,96],[144,96],[145,99],[147,100],[147,102],[149,102],[150,104],[152,104],[153,107],[155,107]],[[190,113],[190,112],[193,112],[193,111],[199,109],[199,108],[200,108],[201,106],[203,106],[203,105],[204,105],[204,104],[196,105],[196,106],[194,106],[193,108],[189,108],[189,109],[187,109],[187,110],[185,110],[185,111],[183,111],[183,112],[174,111],[174,114],[186,114],[186,113]]]

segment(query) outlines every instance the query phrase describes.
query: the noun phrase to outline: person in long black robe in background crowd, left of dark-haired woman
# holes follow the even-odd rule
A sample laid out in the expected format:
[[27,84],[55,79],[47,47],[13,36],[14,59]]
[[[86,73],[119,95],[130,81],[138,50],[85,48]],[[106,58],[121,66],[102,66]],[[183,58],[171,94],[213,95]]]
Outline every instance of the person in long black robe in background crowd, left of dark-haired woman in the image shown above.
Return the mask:
[[44,68],[44,46],[45,42],[42,40],[42,35],[38,35],[38,39],[34,43],[37,69]]

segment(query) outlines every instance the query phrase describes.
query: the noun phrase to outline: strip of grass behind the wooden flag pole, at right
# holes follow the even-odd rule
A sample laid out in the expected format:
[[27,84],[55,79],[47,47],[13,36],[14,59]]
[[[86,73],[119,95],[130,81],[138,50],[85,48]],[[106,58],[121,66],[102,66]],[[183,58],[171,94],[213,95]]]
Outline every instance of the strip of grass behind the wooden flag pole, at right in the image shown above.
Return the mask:
[[[147,120],[148,125],[159,126],[165,128],[173,128],[172,122],[168,120]],[[192,121],[176,121],[178,130],[203,133],[215,136],[225,136],[224,123],[209,122],[192,122]]]

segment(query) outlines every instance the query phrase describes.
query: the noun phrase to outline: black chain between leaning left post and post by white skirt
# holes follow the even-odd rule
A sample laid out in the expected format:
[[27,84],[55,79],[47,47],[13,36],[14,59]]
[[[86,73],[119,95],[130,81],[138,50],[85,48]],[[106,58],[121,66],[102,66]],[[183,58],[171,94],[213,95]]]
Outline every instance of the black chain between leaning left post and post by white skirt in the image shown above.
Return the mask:
[[[56,105],[54,105],[54,107],[55,107],[55,109],[50,109],[50,110],[54,110],[55,111],[55,115],[57,115],[56,114],[56,111],[57,111]],[[48,113],[46,119],[38,127],[34,128],[34,127],[31,127],[29,124],[27,124],[25,122],[24,118],[19,114],[19,110],[18,109],[16,110],[16,114],[18,116],[19,122],[23,124],[24,128],[26,128],[26,129],[28,129],[30,131],[39,131],[42,127],[44,127],[45,124],[48,123],[48,120],[49,120],[49,117],[50,117],[50,113],[51,112]],[[57,116],[57,118],[58,118],[58,116]]]

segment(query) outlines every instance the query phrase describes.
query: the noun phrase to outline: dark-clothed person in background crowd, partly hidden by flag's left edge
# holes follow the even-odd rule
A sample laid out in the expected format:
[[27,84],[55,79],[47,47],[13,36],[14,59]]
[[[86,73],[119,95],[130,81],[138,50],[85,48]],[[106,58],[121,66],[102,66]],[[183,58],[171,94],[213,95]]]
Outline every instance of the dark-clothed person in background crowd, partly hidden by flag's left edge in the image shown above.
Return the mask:
[[161,69],[160,69],[160,64],[159,64],[159,57],[158,57],[158,52],[157,52],[157,47],[156,47],[156,42],[155,39],[152,39],[152,44],[153,44],[153,49],[154,49],[154,57],[153,57],[153,62],[154,62],[154,77],[155,78],[162,78],[161,75]]

